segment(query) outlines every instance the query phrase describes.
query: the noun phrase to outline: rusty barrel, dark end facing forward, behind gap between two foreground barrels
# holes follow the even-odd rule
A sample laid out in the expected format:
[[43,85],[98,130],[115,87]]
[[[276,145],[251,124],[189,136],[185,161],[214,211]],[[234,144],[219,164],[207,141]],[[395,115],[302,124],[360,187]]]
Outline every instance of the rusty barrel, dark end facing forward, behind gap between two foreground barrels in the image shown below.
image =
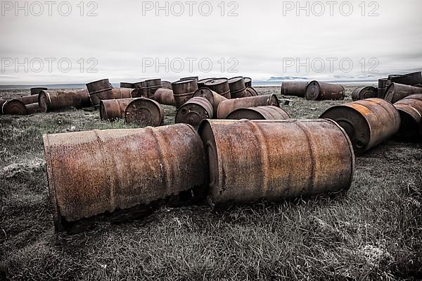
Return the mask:
[[176,114],[175,123],[185,123],[198,127],[205,119],[212,119],[212,104],[207,99],[197,96],[189,99]]

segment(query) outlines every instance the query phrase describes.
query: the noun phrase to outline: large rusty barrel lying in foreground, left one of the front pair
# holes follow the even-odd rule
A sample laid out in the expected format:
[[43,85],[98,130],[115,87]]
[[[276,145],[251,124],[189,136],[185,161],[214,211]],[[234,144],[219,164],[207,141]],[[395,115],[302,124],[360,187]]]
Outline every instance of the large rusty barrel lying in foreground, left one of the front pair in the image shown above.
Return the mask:
[[207,163],[189,125],[44,135],[56,231],[202,189]]

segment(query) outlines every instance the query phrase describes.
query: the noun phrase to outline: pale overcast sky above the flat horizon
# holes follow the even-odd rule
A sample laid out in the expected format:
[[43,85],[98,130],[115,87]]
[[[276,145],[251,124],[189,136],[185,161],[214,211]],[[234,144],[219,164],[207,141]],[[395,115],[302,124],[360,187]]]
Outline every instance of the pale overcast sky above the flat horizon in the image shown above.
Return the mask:
[[155,1],[81,1],[57,1],[51,16],[44,0],[27,2],[27,11],[25,1],[17,11],[15,1],[1,2],[1,85],[191,75],[378,79],[422,69],[420,0],[182,0],[167,2],[167,11]]

